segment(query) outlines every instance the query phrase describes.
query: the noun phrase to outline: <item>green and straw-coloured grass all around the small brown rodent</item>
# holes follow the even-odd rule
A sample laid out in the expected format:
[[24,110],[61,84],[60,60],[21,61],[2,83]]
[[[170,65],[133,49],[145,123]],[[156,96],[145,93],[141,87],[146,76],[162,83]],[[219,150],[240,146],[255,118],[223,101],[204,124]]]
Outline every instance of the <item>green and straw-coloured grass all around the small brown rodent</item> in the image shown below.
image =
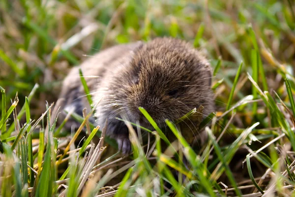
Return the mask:
[[[0,196],[294,196],[292,0],[1,0],[0,16]],[[207,56],[216,113],[187,131],[181,124],[202,112],[192,109],[167,120],[165,135],[140,108],[154,131],[137,127],[137,136],[120,119],[130,129],[128,157],[109,137],[94,143],[105,133],[88,121],[95,107],[57,125],[54,102],[72,66],[156,36],[187,40]],[[71,132],[63,129],[69,116],[81,123]],[[192,146],[191,131],[204,135],[197,130],[208,140]]]

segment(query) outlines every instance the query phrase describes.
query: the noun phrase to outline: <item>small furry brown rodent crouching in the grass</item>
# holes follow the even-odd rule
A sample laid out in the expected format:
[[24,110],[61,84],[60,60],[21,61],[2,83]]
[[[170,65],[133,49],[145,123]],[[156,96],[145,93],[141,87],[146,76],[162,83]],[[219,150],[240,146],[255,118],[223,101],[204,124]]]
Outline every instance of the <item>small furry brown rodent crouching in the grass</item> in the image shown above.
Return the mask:
[[191,46],[175,38],[155,38],[147,43],[121,44],[98,52],[72,68],[65,78],[60,98],[64,108],[82,114],[90,108],[79,77],[79,68],[97,103],[95,124],[116,139],[123,154],[131,151],[128,129],[115,119],[123,112],[133,123],[150,128],[138,107],[144,107],[159,126],[165,119],[177,120],[191,109],[204,106],[204,116],[214,109],[211,68]]

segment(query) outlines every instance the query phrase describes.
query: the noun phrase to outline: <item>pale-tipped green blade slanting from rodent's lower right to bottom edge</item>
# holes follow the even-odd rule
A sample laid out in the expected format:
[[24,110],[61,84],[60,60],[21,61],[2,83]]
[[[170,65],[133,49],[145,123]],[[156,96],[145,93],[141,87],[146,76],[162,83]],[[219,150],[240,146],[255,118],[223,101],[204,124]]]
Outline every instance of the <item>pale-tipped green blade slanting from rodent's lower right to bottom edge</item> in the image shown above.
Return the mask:
[[221,153],[221,150],[220,150],[220,147],[218,146],[216,140],[215,140],[215,136],[213,135],[212,131],[206,127],[206,131],[208,132],[208,135],[209,135],[209,138],[212,140],[213,142],[213,146],[214,146],[214,150],[215,150],[215,153],[219,159],[219,161],[223,164],[223,166],[225,167],[225,173],[227,175],[227,177],[229,178],[232,186],[235,188],[235,191],[236,191],[236,195],[237,196],[241,196],[241,191],[237,188],[237,185],[236,185],[236,180],[234,178],[234,175],[229,167],[229,165],[227,164],[224,156],[222,155]]

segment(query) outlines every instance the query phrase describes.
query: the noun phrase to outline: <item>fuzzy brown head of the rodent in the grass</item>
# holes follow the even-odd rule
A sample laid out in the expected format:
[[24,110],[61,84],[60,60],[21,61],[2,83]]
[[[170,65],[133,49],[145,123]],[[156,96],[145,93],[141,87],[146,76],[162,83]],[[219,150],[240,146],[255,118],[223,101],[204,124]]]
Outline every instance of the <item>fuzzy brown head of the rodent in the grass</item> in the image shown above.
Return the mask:
[[149,125],[138,107],[162,125],[176,120],[191,109],[212,110],[211,70],[207,61],[184,41],[157,38],[138,47],[128,69],[114,83],[116,98],[130,121]]

